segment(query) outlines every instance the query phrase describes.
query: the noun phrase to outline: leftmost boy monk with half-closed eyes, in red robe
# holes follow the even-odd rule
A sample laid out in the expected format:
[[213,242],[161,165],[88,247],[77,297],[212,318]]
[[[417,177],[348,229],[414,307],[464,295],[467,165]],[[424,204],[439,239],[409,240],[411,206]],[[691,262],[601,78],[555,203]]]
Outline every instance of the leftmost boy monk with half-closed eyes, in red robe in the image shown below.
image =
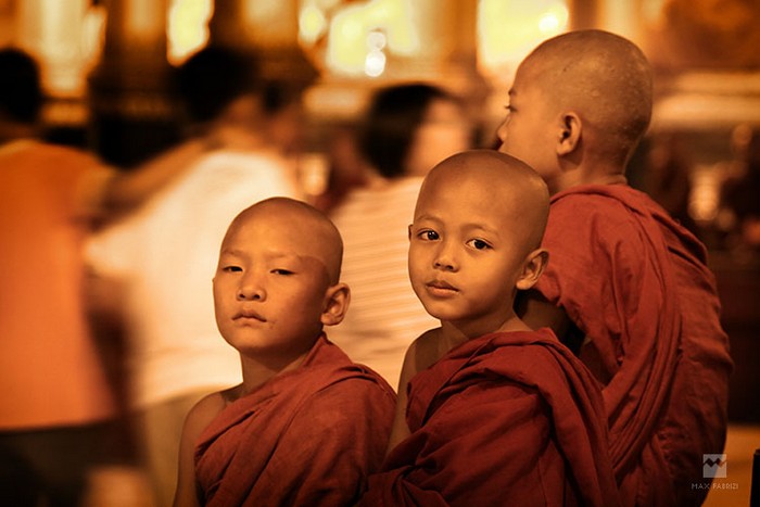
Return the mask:
[[175,506],[351,505],[382,461],[395,394],[324,326],[341,321],[338,229],[273,198],[240,213],[214,277],[216,321],[243,382],[187,417]]

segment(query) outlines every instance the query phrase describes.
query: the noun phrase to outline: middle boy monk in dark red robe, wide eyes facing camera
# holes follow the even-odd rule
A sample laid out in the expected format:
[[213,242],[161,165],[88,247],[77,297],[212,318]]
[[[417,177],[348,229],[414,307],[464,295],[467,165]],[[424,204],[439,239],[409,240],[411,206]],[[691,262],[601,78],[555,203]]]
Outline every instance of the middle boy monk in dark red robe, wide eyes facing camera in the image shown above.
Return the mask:
[[407,351],[394,448],[363,505],[617,505],[597,382],[512,308],[546,266],[547,214],[539,175],[496,151],[426,177],[409,277],[441,327]]

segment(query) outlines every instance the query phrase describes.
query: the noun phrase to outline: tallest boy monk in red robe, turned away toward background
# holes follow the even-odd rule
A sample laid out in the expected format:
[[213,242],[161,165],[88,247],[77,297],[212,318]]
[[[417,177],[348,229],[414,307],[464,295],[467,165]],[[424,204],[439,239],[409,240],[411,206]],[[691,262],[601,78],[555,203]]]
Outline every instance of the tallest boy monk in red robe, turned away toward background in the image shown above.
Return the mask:
[[605,384],[625,503],[699,505],[702,455],[724,444],[732,362],[705,246],[626,186],[651,80],[629,40],[560,35],[519,66],[498,135],[554,194],[552,264],[519,305],[523,320],[585,337],[580,356]]

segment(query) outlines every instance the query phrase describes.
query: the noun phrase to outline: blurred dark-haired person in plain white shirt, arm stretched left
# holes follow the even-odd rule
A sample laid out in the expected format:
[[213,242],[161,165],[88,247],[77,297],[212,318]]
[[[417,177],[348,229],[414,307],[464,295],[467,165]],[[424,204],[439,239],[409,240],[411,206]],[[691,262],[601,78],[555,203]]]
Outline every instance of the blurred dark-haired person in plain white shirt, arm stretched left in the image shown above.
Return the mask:
[[130,405],[159,506],[172,504],[187,411],[241,381],[213,315],[226,227],[256,201],[300,195],[287,156],[299,144],[297,93],[284,89],[264,83],[252,54],[206,47],[192,55],[177,71],[188,140],[143,173],[144,181],[174,177],[88,244],[97,276],[122,289]]

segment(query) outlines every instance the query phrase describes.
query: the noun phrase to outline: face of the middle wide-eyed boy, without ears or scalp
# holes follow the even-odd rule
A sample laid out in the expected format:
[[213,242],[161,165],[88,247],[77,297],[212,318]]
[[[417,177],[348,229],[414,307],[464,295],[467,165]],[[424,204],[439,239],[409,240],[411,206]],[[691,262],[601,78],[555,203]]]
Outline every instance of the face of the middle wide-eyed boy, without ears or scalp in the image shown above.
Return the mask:
[[422,189],[409,227],[409,278],[433,317],[471,337],[514,316],[525,258],[509,193],[449,179]]

